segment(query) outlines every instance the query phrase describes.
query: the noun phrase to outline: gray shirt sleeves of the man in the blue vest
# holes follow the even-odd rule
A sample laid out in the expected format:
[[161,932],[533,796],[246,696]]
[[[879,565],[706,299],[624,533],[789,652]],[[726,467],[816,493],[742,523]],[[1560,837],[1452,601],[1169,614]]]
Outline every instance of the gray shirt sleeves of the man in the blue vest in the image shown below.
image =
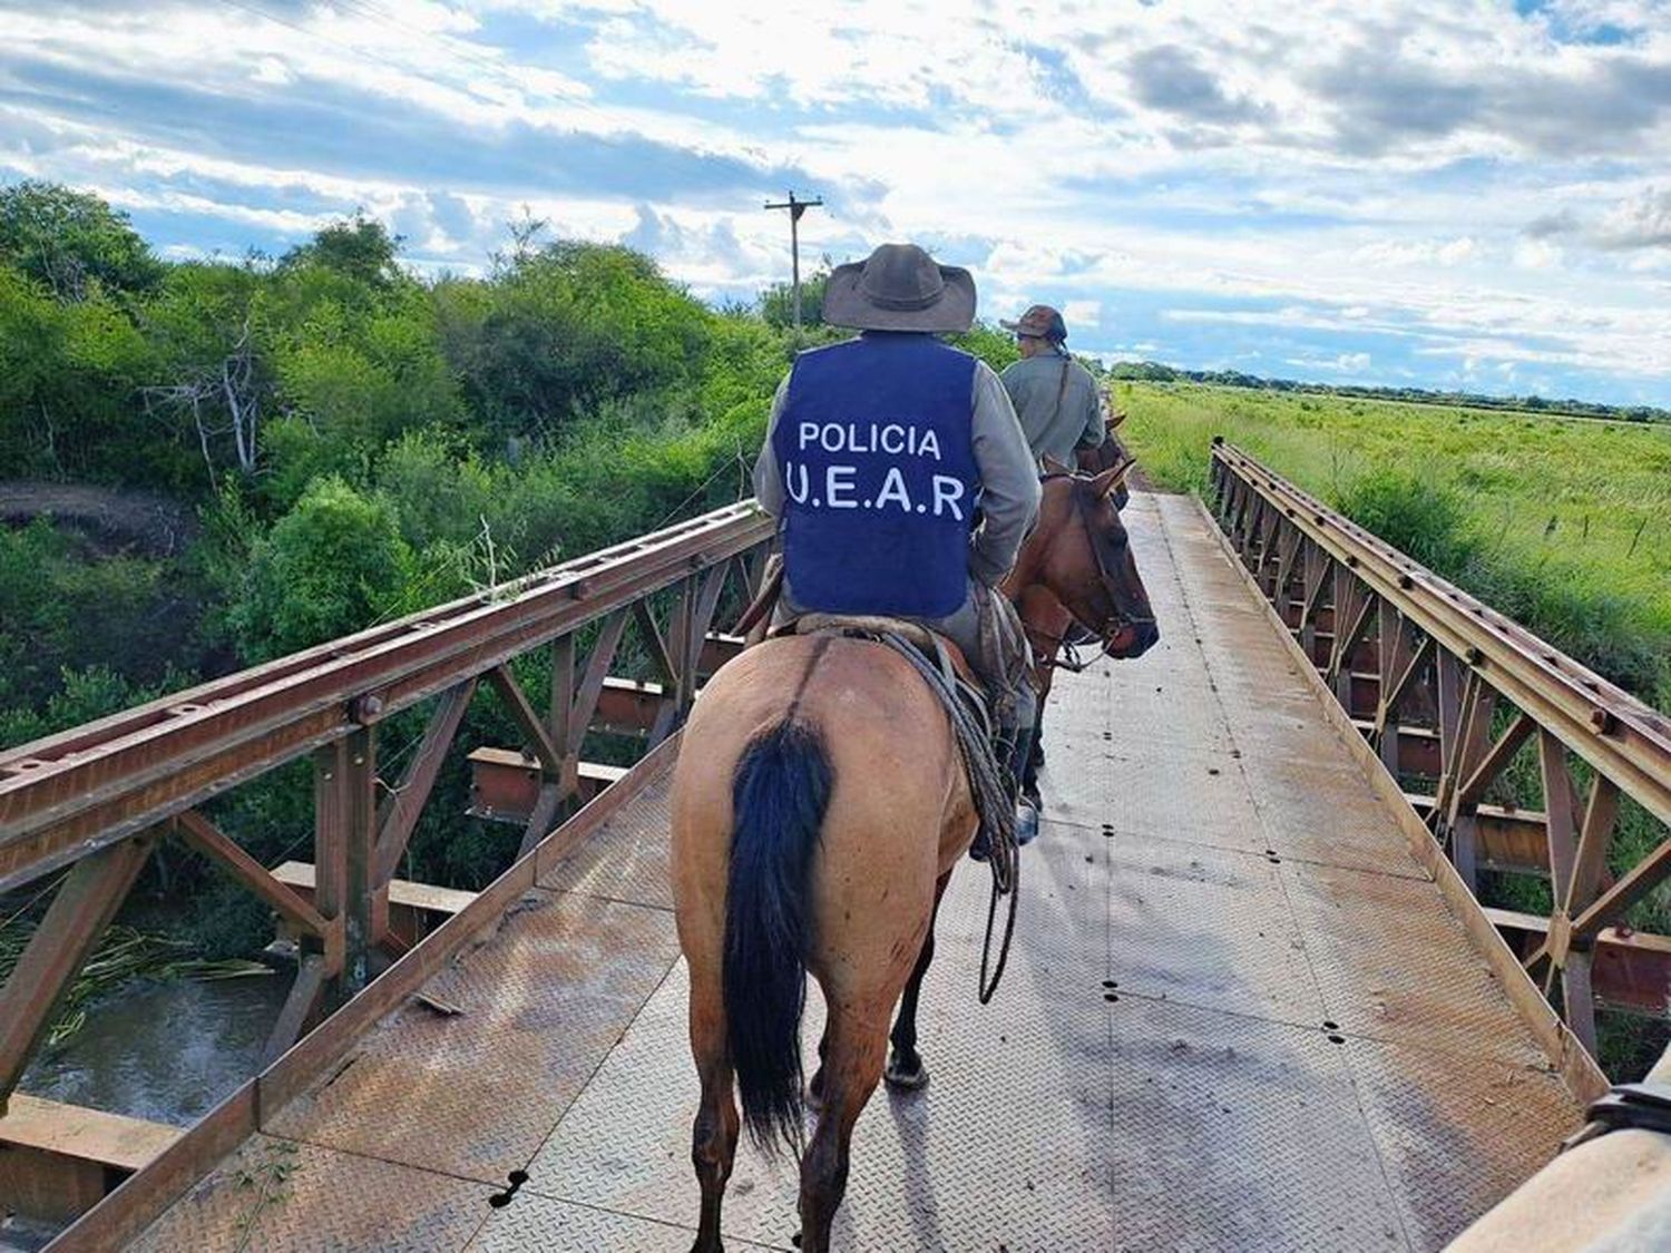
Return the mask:
[[[765,426],[765,444],[760,448],[760,459],[754,463],[754,495],[759,496],[760,508],[774,518],[784,516],[784,476],[772,453],[772,433],[784,416],[787,399],[789,374],[777,384],[772,416]],[[1038,463],[1028,451],[1026,436],[1016,421],[1004,384],[984,361],[974,363],[969,408],[984,518],[969,541],[969,573],[988,586],[996,586],[1016,563],[1021,541],[1028,538],[1038,516]]]

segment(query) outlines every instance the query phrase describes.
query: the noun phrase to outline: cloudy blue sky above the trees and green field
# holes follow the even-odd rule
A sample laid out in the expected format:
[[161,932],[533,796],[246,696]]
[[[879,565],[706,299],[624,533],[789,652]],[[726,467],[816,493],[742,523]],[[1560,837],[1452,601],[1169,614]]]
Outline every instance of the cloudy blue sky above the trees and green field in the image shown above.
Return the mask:
[[0,0],[0,180],[167,256],[914,239],[1108,359],[1671,406],[1671,0]]

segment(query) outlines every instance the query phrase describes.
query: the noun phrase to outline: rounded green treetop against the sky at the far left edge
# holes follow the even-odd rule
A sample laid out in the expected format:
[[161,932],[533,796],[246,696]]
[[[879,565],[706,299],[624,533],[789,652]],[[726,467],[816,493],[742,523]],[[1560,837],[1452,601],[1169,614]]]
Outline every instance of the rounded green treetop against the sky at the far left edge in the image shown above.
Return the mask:
[[142,292],[162,279],[162,264],[127,214],[89,192],[33,179],[0,187],[0,261],[60,301],[80,301],[95,284]]

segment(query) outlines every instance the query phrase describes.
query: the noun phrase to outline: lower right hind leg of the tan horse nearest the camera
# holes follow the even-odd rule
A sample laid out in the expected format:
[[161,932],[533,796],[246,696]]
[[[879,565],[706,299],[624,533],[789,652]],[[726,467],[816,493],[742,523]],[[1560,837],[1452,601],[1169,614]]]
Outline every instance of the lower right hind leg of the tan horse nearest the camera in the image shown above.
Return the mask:
[[887,1053],[887,1036],[871,1024],[886,1021],[830,1007],[824,1109],[800,1159],[800,1253],[827,1253],[830,1246],[830,1223],[847,1191],[852,1128],[882,1078]]

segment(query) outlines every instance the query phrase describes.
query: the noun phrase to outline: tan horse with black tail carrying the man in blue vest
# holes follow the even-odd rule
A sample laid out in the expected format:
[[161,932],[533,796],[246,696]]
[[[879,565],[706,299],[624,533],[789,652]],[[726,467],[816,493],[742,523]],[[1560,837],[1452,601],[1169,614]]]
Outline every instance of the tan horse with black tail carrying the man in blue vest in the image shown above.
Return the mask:
[[[1048,479],[1011,583],[1048,588],[1110,655],[1130,657],[1156,630],[1108,501],[1118,476]],[[852,1128],[882,1078],[889,1011],[921,981],[912,974],[932,952],[936,906],[976,830],[949,720],[911,663],[882,645],[767,640],[724,667],[697,702],[672,825],[702,1081],[693,1253],[722,1248],[740,1124],[767,1151],[804,1143],[807,972],[822,987],[827,1027],[817,1126],[800,1154],[800,1246],[824,1253]],[[907,1007],[914,1053],[914,997],[902,1017]]]

